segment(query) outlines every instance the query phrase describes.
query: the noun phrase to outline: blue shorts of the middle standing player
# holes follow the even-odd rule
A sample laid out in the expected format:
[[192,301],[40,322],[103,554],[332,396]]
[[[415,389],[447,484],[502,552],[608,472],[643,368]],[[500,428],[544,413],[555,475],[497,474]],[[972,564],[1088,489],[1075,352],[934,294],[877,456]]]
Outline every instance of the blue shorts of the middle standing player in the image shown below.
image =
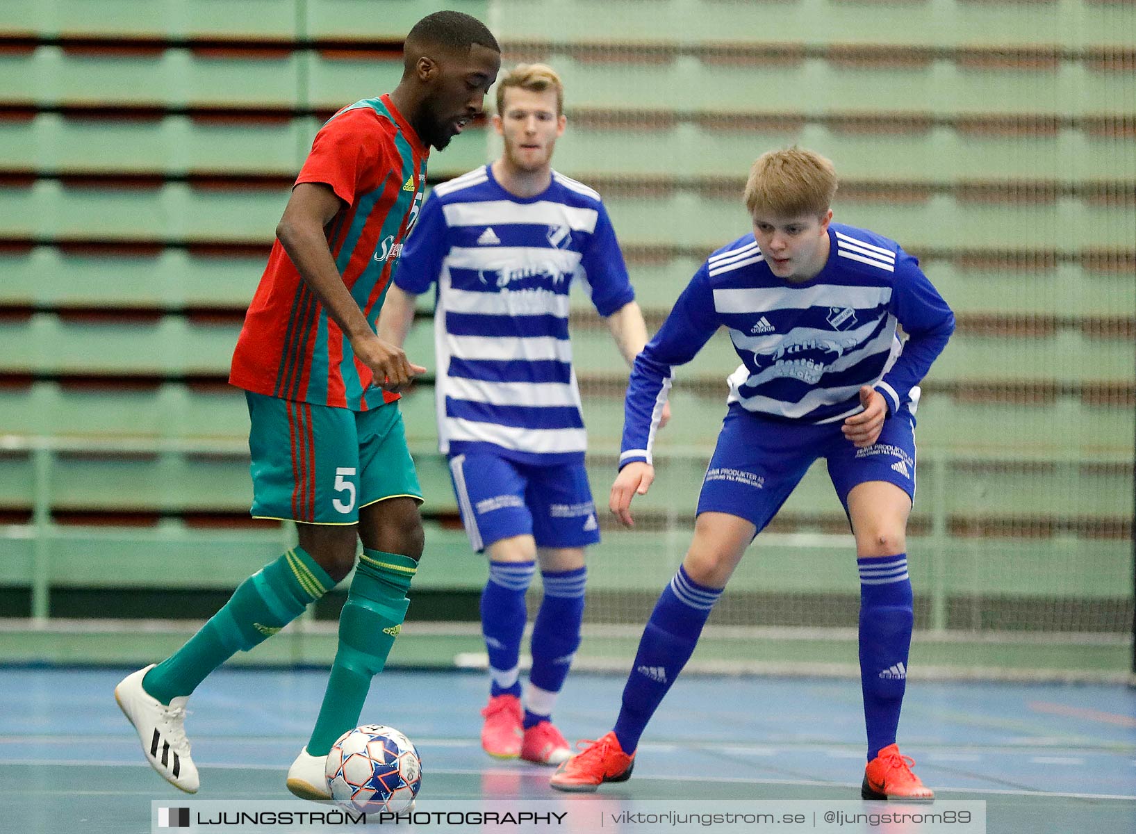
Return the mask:
[[536,466],[474,452],[450,458],[450,478],[477,552],[515,535],[533,536],[538,548],[583,548],[600,541],[583,464]]

